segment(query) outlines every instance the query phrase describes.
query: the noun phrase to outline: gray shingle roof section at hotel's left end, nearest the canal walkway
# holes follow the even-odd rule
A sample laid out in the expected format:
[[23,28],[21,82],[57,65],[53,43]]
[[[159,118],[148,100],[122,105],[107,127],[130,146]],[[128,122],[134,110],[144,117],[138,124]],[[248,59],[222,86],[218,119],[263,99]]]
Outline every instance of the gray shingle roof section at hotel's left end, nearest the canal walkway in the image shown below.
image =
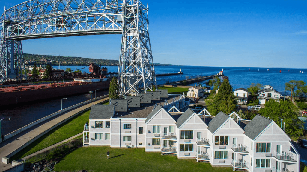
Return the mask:
[[114,113],[114,105],[92,105],[89,119],[110,119]]

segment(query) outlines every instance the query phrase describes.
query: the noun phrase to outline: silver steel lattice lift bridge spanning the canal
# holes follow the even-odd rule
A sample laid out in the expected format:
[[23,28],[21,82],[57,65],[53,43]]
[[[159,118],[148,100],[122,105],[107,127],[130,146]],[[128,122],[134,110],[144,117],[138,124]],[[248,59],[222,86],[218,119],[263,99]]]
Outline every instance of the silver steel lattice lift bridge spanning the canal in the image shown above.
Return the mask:
[[138,0],[30,0],[5,9],[0,19],[0,83],[25,79],[22,40],[122,34],[120,95],[153,91],[157,81],[148,24],[148,5]]

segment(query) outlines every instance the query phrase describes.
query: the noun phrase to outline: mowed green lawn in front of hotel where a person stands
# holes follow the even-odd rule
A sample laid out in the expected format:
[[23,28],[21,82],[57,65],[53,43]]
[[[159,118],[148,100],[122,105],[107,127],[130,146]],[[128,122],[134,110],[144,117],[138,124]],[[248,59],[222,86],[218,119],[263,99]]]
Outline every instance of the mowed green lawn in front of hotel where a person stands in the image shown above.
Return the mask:
[[[107,151],[110,159],[107,159]],[[177,159],[176,156],[145,152],[143,148],[111,149],[110,147],[83,147],[65,155],[55,171],[207,171],[231,172],[231,167],[212,167],[196,163],[195,159]]]

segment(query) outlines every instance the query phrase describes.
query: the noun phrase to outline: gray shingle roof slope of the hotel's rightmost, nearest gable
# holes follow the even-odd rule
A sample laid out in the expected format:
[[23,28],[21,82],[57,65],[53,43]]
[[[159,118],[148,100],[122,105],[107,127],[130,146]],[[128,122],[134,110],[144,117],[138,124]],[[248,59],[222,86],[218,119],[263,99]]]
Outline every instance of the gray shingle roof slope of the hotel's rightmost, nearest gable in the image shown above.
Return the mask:
[[245,127],[245,135],[254,140],[270,123],[271,119],[256,115]]

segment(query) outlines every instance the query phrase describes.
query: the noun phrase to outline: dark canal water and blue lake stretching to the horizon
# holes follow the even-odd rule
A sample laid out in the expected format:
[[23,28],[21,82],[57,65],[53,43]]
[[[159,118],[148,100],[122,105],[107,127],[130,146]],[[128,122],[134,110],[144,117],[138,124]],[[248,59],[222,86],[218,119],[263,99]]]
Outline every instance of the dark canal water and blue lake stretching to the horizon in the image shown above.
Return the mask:
[[[58,69],[58,66],[53,66]],[[60,66],[60,69],[71,68],[72,70],[80,69],[88,73],[87,66]],[[82,69],[84,68],[84,69]],[[117,66],[107,66],[109,72],[117,72]],[[290,80],[307,81],[307,69],[285,69],[285,68],[242,68],[242,67],[205,67],[205,66],[155,66],[156,73],[176,73],[182,68],[182,75],[157,77],[157,84],[165,84],[177,80],[185,80],[187,77],[194,78],[197,76],[207,76],[219,73],[223,69],[224,75],[229,77],[230,84],[233,89],[248,88],[251,83],[269,84],[284,95],[285,83]],[[268,70],[269,69],[269,70]],[[281,70],[281,73],[280,73]],[[305,70],[305,73],[300,73]],[[205,85],[204,82],[201,84]],[[108,90],[97,91],[96,96],[108,94]],[[288,95],[289,92],[286,92]],[[39,95],[44,96],[44,95]],[[93,97],[94,97],[93,93]],[[66,96],[67,100],[63,100],[63,108],[70,107],[77,103],[90,99],[90,94],[80,94]],[[30,102],[27,104],[18,104],[18,106],[0,107],[0,119],[11,117],[11,121],[2,120],[1,134],[10,133],[19,129],[37,119],[43,118],[61,109],[61,98]]]

